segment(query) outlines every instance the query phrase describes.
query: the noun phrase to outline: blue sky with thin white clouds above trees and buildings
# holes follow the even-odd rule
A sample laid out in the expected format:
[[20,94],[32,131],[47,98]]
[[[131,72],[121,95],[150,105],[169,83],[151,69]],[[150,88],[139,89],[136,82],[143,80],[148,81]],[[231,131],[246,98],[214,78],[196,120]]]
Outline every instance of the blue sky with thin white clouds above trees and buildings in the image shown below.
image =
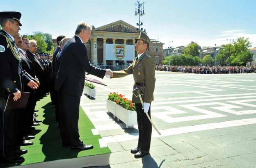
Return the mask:
[[[146,0],[143,28],[150,39],[164,48],[228,43],[226,39],[249,37],[256,47],[256,2],[254,0]],[[22,13],[21,34],[35,31],[73,36],[80,21],[100,27],[123,20],[136,27],[135,0],[2,0],[0,11]]]

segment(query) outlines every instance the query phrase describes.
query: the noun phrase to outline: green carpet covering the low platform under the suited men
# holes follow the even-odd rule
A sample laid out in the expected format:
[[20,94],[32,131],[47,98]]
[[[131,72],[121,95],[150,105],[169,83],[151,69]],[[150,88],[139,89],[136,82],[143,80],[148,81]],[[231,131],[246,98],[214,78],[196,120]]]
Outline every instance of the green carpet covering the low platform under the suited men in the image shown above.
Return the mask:
[[38,101],[36,109],[39,110],[37,120],[43,120],[43,122],[35,126],[36,130],[33,131],[32,135],[36,138],[30,141],[34,142],[34,145],[21,147],[28,150],[27,154],[22,155],[25,161],[18,164],[5,163],[2,164],[3,167],[111,153],[107,147],[100,148],[98,139],[101,136],[92,134],[91,129],[95,127],[81,107],[78,122],[80,139],[85,144],[94,145],[94,149],[85,151],[74,151],[70,147],[62,147],[59,127],[55,121],[55,106],[50,101],[50,95]]

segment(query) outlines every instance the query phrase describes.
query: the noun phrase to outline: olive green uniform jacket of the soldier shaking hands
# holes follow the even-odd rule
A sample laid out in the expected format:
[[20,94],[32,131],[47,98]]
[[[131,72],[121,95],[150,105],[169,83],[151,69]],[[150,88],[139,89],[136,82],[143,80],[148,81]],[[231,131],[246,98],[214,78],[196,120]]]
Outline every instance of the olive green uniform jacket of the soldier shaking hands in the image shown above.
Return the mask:
[[[143,102],[151,103],[154,100],[153,92],[155,89],[155,60],[146,52],[140,57],[142,59],[133,60],[133,63],[124,70],[113,71],[113,77],[124,77],[129,74],[133,74],[134,85],[133,89],[136,87],[139,89],[140,93],[143,94]],[[145,86],[137,86],[136,82],[144,83]],[[136,98],[133,95],[133,103],[140,103],[139,97]]]

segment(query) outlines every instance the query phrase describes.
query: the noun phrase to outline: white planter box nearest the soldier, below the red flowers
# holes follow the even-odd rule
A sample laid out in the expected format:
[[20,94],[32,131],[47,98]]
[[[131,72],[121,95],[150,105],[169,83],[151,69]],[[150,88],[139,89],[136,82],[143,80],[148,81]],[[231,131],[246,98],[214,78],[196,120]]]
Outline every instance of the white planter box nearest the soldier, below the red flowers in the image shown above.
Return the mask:
[[137,113],[136,111],[126,110],[123,107],[116,105],[115,116],[117,119],[123,121],[126,124],[126,128],[134,127],[137,125]]

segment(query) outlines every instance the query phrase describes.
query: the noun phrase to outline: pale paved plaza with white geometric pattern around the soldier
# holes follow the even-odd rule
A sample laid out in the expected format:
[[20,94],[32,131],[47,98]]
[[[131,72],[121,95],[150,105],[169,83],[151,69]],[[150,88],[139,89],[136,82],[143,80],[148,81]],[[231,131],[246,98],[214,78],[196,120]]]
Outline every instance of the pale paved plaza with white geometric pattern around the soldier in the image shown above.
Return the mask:
[[256,74],[156,71],[155,78],[151,117],[162,135],[153,129],[150,155],[142,159],[130,153],[137,126],[126,129],[106,109],[110,92],[131,99],[133,75],[102,80],[107,86],[96,84],[95,99],[82,96],[91,131],[112,151],[104,168],[256,168]]

